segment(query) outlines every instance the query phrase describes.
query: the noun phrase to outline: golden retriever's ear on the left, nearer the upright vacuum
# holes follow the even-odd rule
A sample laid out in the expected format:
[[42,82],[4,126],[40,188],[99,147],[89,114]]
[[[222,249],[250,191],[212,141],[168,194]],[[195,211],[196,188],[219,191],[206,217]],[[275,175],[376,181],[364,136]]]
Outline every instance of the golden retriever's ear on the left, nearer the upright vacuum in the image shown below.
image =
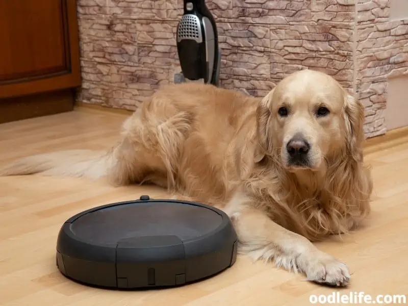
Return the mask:
[[266,152],[272,151],[270,118],[271,102],[274,89],[272,89],[259,103],[257,108],[257,133],[258,146],[255,150],[256,162],[263,159]]

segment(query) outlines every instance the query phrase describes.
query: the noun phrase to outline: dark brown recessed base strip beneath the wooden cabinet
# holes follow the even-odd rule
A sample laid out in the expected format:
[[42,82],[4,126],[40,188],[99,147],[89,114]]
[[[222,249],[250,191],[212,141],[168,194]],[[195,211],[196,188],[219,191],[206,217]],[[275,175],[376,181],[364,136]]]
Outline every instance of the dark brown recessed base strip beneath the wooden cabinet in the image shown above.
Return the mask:
[[73,110],[71,89],[0,99],[0,123],[54,115]]

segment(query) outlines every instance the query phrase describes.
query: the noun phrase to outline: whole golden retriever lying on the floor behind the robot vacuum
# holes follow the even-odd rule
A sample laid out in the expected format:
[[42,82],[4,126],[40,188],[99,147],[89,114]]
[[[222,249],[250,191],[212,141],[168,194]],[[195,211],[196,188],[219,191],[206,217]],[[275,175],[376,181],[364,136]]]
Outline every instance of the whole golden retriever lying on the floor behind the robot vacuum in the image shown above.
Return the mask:
[[335,79],[304,69],[265,97],[197,83],[159,89],[105,152],[22,158],[0,175],[156,184],[231,218],[239,252],[330,286],[348,267],[313,242],[349,233],[370,213],[364,106]]

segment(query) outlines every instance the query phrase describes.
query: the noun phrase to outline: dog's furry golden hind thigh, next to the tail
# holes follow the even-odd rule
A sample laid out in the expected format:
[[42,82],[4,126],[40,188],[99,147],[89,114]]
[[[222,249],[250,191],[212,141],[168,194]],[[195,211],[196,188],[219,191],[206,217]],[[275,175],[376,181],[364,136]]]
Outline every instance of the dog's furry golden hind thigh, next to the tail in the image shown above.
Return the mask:
[[190,119],[188,113],[177,111],[171,100],[146,101],[122,125],[121,140],[112,149],[109,181],[114,185],[150,182],[173,189]]

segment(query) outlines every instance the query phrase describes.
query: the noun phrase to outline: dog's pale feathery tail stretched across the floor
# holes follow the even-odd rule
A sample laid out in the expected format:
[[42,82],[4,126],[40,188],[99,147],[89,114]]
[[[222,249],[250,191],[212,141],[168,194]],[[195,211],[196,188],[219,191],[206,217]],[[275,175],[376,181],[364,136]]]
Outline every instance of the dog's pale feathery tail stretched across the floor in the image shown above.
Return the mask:
[[107,174],[110,152],[66,150],[18,159],[0,167],[0,176],[41,173],[49,176],[87,177],[97,180]]

